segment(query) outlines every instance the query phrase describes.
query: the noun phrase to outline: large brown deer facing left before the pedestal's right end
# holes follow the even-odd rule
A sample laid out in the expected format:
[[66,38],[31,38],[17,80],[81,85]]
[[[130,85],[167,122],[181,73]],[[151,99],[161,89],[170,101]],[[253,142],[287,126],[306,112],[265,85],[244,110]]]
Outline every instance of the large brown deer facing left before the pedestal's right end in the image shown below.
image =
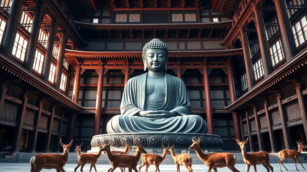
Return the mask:
[[[201,136],[202,137],[202,136]],[[204,154],[200,149],[200,137],[195,141],[196,137],[192,138],[192,145],[189,147],[190,150],[195,150],[197,156],[200,160],[202,160],[206,166],[208,167],[208,171],[210,172],[213,168],[214,172],[217,172],[217,167],[228,167],[233,172],[240,172],[235,168],[235,162],[237,161],[237,157],[231,153],[207,153]]]

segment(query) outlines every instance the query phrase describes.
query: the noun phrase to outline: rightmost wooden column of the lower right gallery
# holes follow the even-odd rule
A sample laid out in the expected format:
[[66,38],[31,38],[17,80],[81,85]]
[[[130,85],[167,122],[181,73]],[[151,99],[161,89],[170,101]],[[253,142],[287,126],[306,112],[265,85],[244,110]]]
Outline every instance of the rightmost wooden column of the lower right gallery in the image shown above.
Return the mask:
[[305,137],[307,138],[307,113],[306,113],[306,107],[305,107],[305,99],[304,95],[301,89],[301,83],[297,83],[295,85],[295,91],[297,94],[297,101],[300,107],[300,112],[302,116],[302,121],[303,121],[303,126],[304,126],[304,131],[305,131]]

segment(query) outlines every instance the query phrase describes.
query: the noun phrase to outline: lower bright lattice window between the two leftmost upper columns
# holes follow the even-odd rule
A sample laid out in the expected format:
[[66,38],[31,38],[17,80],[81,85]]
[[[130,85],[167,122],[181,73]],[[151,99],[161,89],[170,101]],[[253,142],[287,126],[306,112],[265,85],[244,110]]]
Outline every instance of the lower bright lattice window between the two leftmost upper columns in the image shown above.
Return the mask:
[[25,60],[25,50],[27,49],[28,41],[23,38],[19,33],[16,33],[15,43],[12,51],[12,55],[20,59]]

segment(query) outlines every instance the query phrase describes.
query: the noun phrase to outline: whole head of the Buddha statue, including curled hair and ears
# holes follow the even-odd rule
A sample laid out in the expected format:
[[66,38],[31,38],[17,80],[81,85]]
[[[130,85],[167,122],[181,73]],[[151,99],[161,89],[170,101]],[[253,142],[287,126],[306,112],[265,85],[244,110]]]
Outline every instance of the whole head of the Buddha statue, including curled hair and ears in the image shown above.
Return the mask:
[[169,61],[169,48],[160,39],[152,39],[143,47],[144,71],[166,71]]

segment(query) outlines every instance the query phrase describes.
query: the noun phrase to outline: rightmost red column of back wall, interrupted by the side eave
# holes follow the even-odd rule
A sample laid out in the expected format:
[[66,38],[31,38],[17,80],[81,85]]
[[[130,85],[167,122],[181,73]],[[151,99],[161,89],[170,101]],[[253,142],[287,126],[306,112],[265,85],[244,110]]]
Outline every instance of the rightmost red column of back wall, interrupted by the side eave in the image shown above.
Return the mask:
[[[233,82],[233,75],[232,75],[232,66],[229,64],[227,66],[227,72],[226,75],[228,77],[228,85],[229,85],[229,95],[230,95],[230,102],[233,103],[236,100],[235,96],[235,85]],[[240,122],[237,112],[232,112],[232,120],[233,120],[233,127],[235,130],[235,138],[238,140],[241,140],[241,134],[240,134]]]

